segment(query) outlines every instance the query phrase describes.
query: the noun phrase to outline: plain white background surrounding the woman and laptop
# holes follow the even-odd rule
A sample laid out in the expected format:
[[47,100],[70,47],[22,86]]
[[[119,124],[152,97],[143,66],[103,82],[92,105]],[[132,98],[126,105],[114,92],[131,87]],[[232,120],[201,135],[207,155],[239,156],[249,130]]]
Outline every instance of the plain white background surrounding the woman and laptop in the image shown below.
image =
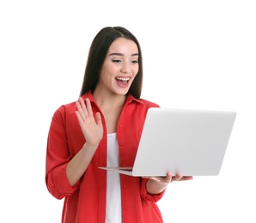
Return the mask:
[[1,1],[1,222],[60,222],[46,190],[53,112],[78,98],[88,47],[123,26],[143,50],[143,98],[237,112],[220,175],[169,185],[165,222],[256,222],[256,7],[249,0]]

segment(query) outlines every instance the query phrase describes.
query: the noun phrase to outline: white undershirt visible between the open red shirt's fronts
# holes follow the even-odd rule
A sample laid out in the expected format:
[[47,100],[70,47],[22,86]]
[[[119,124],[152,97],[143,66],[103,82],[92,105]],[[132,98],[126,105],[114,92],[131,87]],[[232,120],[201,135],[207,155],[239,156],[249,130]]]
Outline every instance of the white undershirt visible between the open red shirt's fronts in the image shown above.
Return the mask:
[[[107,134],[107,166],[119,166],[117,134]],[[120,177],[118,172],[107,171],[106,223],[122,222]]]

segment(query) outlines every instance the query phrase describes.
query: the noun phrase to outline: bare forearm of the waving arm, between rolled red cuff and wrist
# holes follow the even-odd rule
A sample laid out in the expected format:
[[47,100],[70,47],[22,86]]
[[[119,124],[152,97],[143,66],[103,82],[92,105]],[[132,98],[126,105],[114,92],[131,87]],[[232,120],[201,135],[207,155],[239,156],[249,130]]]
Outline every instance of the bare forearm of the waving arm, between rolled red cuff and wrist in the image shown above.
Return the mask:
[[76,184],[86,171],[96,149],[97,146],[90,146],[88,143],[84,143],[82,149],[70,160],[70,163],[66,167],[66,175],[71,187]]

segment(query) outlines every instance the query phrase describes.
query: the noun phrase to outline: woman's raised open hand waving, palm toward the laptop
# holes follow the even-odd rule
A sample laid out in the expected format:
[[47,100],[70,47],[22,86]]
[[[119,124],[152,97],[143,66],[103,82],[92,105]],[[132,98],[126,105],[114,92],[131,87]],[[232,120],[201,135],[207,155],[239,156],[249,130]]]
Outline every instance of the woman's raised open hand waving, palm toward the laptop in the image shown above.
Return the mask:
[[101,142],[103,136],[101,114],[97,112],[94,118],[89,99],[85,99],[84,103],[83,99],[80,97],[78,101],[76,101],[76,107],[76,117],[86,142],[92,146],[98,145]]

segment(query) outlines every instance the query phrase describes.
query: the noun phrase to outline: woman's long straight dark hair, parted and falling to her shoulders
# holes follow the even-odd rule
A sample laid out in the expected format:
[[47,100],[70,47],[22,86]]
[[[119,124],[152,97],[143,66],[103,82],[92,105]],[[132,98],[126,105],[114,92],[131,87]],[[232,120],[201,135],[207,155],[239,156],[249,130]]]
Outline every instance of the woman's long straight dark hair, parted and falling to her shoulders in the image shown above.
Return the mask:
[[143,87],[143,58],[142,51],[137,41],[137,38],[124,27],[104,27],[96,34],[88,51],[88,60],[83,76],[82,89],[80,96],[87,93],[89,90],[94,93],[94,89],[99,81],[102,64],[104,63],[107,51],[115,39],[124,37],[131,39],[136,43],[138,49],[138,72],[135,79],[132,81],[128,93],[131,93],[135,98],[140,98]]

